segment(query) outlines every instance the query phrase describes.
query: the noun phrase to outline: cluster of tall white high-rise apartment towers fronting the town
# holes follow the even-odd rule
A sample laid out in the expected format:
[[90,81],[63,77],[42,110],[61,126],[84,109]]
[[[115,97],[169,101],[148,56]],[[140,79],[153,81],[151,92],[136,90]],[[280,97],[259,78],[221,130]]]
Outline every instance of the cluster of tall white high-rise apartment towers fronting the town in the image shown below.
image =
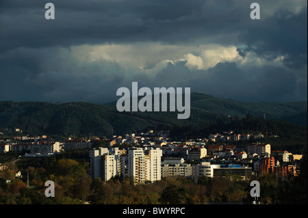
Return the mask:
[[162,150],[159,148],[99,148],[90,150],[90,167],[92,178],[110,180],[114,176],[129,176],[136,184],[146,181],[161,180]]

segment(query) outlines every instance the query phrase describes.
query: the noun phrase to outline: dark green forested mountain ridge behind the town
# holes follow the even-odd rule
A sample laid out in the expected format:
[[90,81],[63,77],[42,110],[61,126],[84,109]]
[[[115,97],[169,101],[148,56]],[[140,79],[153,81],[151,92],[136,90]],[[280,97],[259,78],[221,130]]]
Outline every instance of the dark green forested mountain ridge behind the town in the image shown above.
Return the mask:
[[56,104],[1,101],[0,129],[21,128],[33,134],[110,136],[140,131],[149,126],[198,125],[216,120],[218,116],[224,120],[229,115],[242,118],[246,113],[307,126],[307,102],[244,103],[192,93],[188,120],[178,120],[177,111],[118,112],[115,105],[116,102]]

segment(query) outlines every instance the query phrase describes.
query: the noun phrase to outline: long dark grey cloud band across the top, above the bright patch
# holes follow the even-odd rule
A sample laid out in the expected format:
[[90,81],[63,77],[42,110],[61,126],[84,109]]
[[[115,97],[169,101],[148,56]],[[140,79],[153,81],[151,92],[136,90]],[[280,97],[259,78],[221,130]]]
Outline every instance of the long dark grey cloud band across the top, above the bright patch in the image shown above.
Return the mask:
[[47,21],[46,2],[1,1],[1,50],[148,40],[187,42],[204,37],[224,43],[230,33],[246,28],[244,21],[250,12],[248,2],[221,0],[54,0],[55,20]]

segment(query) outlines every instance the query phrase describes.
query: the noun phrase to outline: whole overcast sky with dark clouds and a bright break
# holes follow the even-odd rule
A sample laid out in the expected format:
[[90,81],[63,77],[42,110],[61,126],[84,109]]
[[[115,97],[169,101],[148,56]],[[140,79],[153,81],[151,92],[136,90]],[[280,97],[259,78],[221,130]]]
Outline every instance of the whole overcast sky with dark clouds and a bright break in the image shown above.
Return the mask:
[[307,100],[307,0],[0,1],[0,100],[105,103],[132,81]]

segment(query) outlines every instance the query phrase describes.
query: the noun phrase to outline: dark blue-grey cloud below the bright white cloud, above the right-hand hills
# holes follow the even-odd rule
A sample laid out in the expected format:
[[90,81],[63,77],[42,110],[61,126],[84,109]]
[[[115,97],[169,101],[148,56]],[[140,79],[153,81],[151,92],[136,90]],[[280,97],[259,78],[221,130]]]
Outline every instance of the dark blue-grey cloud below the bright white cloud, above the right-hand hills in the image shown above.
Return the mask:
[[[300,91],[296,85],[298,79],[290,70],[263,66],[253,72],[244,71],[232,62],[218,63],[214,68],[196,72],[188,70],[183,62],[175,66],[169,64],[155,79],[157,83],[165,79],[161,83],[166,87],[191,87],[192,92],[245,101],[290,101]],[[307,99],[307,85],[305,89],[305,94],[296,100]]]

